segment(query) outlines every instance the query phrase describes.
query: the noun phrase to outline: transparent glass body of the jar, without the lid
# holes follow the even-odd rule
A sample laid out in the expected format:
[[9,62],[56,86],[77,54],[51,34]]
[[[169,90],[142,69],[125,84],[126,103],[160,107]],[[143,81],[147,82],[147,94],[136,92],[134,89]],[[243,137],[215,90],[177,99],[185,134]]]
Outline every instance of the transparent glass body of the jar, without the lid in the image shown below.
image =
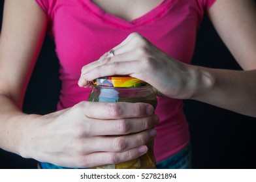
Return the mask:
[[[152,86],[143,85],[135,87],[114,87],[93,85],[88,101],[96,102],[129,102],[129,103],[149,103],[154,108],[157,106],[157,98],[153,92]],[[112,169],[136,169],[136,168],[155,168],[155,157],[153,156],[153,140],[147,144],[146,154],[131,161],[121,162],[119,164],[108,164],[97,166],[95,168]]]

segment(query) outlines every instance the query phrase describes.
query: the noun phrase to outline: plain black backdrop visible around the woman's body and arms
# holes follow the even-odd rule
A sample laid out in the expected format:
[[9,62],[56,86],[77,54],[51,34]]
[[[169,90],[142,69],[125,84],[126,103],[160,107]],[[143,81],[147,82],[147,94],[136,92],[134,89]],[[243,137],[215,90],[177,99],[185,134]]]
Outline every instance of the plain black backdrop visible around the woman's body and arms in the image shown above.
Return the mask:
[[[1,19],[3,1],[1,1]],[[0,22],[1,23],[1,22]],[[207,17],[197,36],[193,64],[240,70]],[[24,101],[24,112],[47,114],[56,110],[60,81],[54,43],[48,36],[35,66]],[[256,119],[229,110],[184,101],[191,131],[193,168],[255,168]],[[0,149],[0,168],[36,168],[37,162]]]

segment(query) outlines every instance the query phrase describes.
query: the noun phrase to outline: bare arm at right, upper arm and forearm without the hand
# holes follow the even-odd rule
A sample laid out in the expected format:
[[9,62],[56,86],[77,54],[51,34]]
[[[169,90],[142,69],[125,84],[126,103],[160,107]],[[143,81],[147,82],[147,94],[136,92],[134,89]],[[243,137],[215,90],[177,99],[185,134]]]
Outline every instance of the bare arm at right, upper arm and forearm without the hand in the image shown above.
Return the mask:
[[199,68],[202,87],[193,99],[256,116],[255,1],[217,0],[209,16],[236,61],[247,71]]

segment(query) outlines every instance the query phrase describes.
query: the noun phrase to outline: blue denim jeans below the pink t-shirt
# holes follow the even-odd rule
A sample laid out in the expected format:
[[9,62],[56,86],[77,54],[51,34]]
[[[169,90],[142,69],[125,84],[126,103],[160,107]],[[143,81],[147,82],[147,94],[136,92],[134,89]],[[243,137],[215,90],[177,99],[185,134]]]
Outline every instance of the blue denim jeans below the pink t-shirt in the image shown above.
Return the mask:
[[[71,169],[54,164],[41,162],[39,168],[42,169]],[[178,151],[174,155],[164,159],[163,161],[157,162],[157,169],[190,169],[191,165],[191,145],[187,144],[185,148]]]

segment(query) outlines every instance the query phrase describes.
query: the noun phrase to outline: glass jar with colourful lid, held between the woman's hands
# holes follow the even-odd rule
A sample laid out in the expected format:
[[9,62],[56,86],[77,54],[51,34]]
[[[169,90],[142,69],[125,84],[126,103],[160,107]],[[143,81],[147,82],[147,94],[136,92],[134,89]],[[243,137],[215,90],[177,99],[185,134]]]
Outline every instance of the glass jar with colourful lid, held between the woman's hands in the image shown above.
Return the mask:
[[[154,108],[157,106],[157,98],[152,86],[144,81],[129,76],[101,77],[91,81],[93,89],[89,94],[88,101],[96,102],[129,102],[150,103]],[[128,134],[129,135],[129,134]],[[153,155],[153,140],[147,144],[146,154],[131,161],[119,164],[108,164],[94,168],[110,169],[142,169],[155,168]]]

